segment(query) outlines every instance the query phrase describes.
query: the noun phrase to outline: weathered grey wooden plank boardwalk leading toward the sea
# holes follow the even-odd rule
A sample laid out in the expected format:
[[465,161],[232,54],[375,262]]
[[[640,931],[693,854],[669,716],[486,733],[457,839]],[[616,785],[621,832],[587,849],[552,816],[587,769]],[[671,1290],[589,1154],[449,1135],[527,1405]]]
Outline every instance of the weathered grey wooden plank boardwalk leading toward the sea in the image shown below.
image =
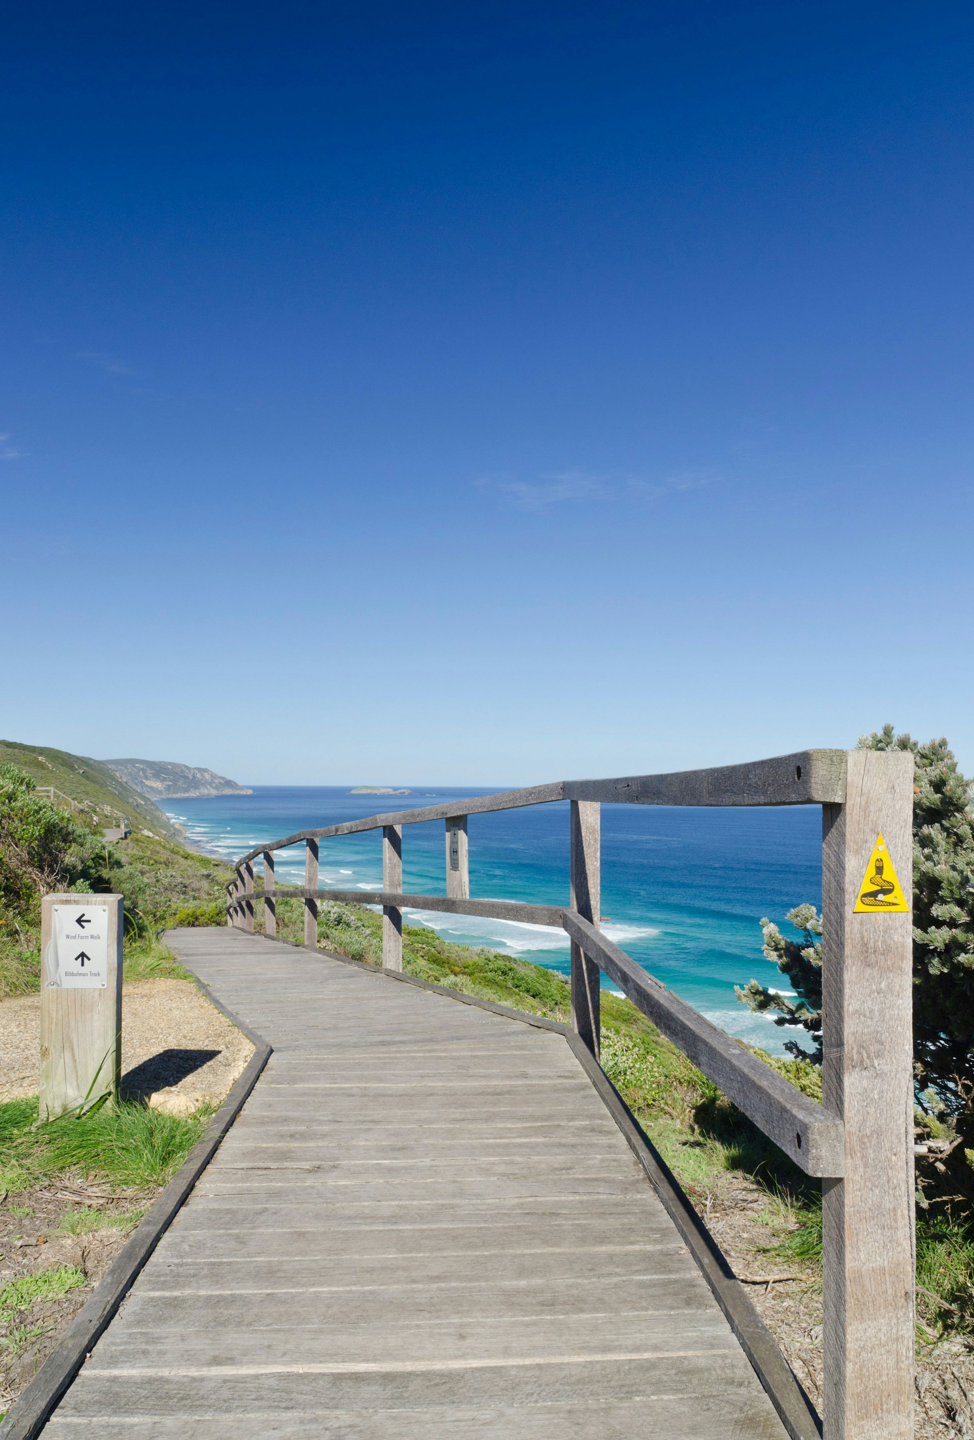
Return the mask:
[[170,943],[274,1054],[45,1436],[785,1436],[560,1035]]

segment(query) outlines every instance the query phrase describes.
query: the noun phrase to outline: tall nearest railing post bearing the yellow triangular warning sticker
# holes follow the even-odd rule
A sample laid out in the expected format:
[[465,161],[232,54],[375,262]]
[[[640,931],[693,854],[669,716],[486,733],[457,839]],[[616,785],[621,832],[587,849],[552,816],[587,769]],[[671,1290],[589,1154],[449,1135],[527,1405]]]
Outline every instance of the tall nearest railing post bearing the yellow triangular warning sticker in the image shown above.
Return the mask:
[[912,910],[913,757],[847,760],[846,804],[823,805],[823,1104],[846,1125],[823,1181],[824,1440],[911,1440],[912,914],[856,901],[882,835]]

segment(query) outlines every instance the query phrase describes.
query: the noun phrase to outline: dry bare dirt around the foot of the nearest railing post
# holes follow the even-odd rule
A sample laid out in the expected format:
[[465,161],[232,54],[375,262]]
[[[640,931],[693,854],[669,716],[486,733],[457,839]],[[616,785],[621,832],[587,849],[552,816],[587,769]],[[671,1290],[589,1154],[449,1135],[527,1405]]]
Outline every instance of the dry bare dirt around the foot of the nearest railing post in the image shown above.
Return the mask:
[[[767,1191],[728,1176],[715,1192],[693,1194],[762,1320],[805,1392],[821,1411],[821,1277],[818,1269],[778,1260],[768,1247],[787,1233]],[[962,1339],[926,1346],[916,1358],[916,1440],[974,1440],[974,1355]]]

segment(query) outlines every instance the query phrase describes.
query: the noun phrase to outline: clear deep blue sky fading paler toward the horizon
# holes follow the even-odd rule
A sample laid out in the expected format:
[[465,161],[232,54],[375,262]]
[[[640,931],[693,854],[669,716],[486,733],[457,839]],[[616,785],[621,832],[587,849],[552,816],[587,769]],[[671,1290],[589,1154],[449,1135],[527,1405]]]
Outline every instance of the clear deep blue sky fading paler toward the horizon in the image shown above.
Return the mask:
[[0,733],[255,782],[974,770],[974,12],[37,4]]

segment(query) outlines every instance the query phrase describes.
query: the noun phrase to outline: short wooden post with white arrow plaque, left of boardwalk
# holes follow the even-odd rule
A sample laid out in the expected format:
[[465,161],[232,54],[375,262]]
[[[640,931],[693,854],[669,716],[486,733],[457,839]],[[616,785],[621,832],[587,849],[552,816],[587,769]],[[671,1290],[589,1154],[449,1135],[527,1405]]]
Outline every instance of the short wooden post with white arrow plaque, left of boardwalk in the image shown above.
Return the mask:
[[40,907],[42,1120],[112,1104],[121,1079],[121,896],[53,894]]

